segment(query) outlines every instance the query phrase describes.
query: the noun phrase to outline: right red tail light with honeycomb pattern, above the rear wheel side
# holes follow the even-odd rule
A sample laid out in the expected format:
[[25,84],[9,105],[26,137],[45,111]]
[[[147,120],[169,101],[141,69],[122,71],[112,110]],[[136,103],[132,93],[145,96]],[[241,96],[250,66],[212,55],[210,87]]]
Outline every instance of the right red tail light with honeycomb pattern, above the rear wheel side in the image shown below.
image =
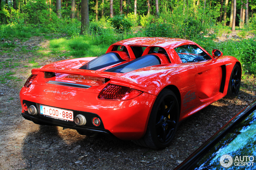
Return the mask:
[[99,99],[128,100],[142,94],[142,91],[120,85],[107,85],[100,93]]

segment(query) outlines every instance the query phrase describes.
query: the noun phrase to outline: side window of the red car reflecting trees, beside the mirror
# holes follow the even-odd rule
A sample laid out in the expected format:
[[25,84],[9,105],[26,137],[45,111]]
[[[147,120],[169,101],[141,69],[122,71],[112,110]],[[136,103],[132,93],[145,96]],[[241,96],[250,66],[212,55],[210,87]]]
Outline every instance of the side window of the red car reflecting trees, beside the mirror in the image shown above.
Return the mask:
[[182,63],[198,62],[211,59],[209,55],[204,53],[204,51],[202,51],[196,45],[182,45],[180,47],[176,47],[174,50],[179,55]]

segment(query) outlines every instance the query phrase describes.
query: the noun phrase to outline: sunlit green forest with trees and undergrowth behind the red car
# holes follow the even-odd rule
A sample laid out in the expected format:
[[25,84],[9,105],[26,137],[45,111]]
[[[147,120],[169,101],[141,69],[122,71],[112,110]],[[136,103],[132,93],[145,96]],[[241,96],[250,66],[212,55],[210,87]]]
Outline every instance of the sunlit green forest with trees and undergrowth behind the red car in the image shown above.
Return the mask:
[[1,51],[14,48],[15,38],[51,34],[51,53],[64,47],[72,57],[91,57],[125,38],[175,37],[220,49],[244,73],[256,73],[255,0],[0,0],[0,8]]

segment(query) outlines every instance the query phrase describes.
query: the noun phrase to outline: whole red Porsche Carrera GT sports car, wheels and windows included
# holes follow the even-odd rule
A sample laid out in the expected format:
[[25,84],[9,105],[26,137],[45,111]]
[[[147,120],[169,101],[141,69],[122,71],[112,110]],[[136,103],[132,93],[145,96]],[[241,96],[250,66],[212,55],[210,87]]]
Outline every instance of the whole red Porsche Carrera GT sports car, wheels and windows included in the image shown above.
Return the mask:
[[179,121],[222,97],[237,96],[241,65],[190,40],[139,37],[100,57],[33,69],[21,89],[22,115],[81,134],[108,134],[164,148]]

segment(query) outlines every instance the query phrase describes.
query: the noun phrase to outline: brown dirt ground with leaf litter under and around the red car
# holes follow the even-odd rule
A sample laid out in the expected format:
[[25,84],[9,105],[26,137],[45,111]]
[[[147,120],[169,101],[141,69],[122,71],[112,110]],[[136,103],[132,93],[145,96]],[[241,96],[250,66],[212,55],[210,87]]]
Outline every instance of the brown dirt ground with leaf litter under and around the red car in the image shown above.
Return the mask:
[[[235,99],[220,99],[180,123],[171,145],[163,150],[103,136],[81,136],[76,130],[36,125],[21,116],[19,91],[34,68],[29,59],[35,57],[39,65],[45,65],[63,58],[38,57],[38,53],[50,51],[43,36],[17,40],[16,44],[11,52],[0,51],[0,62],[8,61],[10,66],[19,63],[0,67],[0,75],[15,72],[12,76],[18,78],[0,83],[1,170],[173,169],[256,99],[256,78],[248,76]],[[24,47],[25,53],[21,51]]]

